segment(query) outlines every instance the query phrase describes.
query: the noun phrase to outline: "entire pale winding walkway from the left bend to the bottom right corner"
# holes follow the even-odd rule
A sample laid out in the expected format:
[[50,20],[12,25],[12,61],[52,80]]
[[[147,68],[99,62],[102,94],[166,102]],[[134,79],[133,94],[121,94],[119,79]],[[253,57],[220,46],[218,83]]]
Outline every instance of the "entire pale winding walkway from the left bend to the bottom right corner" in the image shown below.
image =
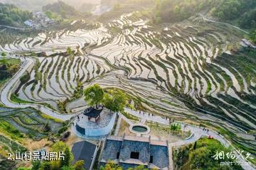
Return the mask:
[[[26,72],[26,70],[28,70],[30,67],[33,67],[33,64],[36,62],[36,60],[33,59],[33,57],[15,57],[15,56],[8,56],[10,58],[18,58],[21,60],[21,69],[16,72],[16,74],[14,74],[14,77],[12,77],[7,83],[6,85],[1,89],[0,91],[0,101],[1,103],[3,103],[5,106],[9,107],[9,108],[27,108],[27,107],[31,107],[31,108],[35,108],[38,111],[41,111],[42,113],[49,115],[53,118],[59,119],[59,120],[70,120],[71,118],[74,118],[75,115],[80,114],[80,112],[78,113],[73,113],[73,114],[60,114],[56,111],[52,111],[52,109],[47,108],[45,106],[41,106],[39,104],[36,103],[14,103],[10,100],[10,96],[11,96],[11,91],[14,91],[14,87],[16,86],[16,84],[18,84],[19,79],[21,78],[21,76],[23,75],[24,72]],[[149,120],[151,122],[155,122],[155,123],[159,123],[159,124],[163,124],[163,125],[169,125],[169,120],[165,119],[165,118],[161,118],[159,115],[151,115],[149,113],[139,113],[139,111],[132,111],[129,108],[125,108],[125,111],[131,115],[134,115],[138,118],[143,119],[144,121]],[[121,114],[121,113],[119,113]],[[123,116],[124,117],[124,116]],[[200,139],[202,136],[213,136],[216,140],[220,141],[225,147],[233,147],[230,142],[228,142],[228,140],[226,140],[223,136],[218,135],[217,132],[213,131],[213,130],[209,130],[208,132],[206,130],[203,130],[202,128],[199,128],[197,126],[194,125],[188,125],[188,124],[183,124],[181,122],[176,122],[181,124],[181,128],[183,130],[186,131],[191,131],[191,133],[193,135],[191,135],[191,137],[188,137],[188,139],[186,140],[182,140],[182,141],[178,141],[178,142],[173,142],[170,143],[170,147],[176,147],[176,146],[181,146],[181,145],[187,145],[189,143],[193,143],[196,142],[196,140]],[[117,127],[119,127],[119,125],[117,125]],[[238,156],[238,150],[234,148],[234,153]],[[253,167],[252,164],[247,164],[247,162],[242,159],[242,157],[238,157],[238,161],[242,162],[241,166],[243,169],[246,170],[255,170],[255,167]],[[172,162],[170,162],[170,164],[173,164]]]

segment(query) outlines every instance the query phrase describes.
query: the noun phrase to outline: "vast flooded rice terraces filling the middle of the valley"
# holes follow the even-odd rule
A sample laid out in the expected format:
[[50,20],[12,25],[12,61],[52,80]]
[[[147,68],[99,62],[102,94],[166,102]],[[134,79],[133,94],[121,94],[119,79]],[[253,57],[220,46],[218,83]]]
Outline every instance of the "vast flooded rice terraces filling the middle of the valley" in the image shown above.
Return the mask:
[[[151,26],[146,18],[127,14],[97,28],[75,22],[0,49],[48,56],[38,57],[31,79],[19,89],[23,100],[50,103],[58,109],[59,101],[72,98],[78,82],[84,87],[98,83],[129,92],[151,111],[209,120],[238,132],[256,128],[255,57],[246,55],[242,60],[240,53],[226,52],[241,36],[239,30],[218,23],[195,19]],[[64,55],[67,47],[75,50],[75,57]],[[252,52],[256,53],[248,54]],[[78,98],[67,108],[78,111],[85,104]],[[234,140],[250,138],[240,137]],[[255,150],[250,140],[245,145]]]

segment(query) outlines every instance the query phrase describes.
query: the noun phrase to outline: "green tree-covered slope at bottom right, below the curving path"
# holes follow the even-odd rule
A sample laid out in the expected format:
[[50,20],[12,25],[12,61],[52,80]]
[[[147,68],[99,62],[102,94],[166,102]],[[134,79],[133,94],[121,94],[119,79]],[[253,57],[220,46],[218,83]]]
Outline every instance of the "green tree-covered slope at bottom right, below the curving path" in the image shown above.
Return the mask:
[[213,157],[217,152],[223,151],[225,154],[230,152],[230,149],[223,147],[218,140],[201,138],[195,144],[187,145],[178,148],[174,151],[174,166],[179,170],[193,169],[226,169],[240,170],[241,166],[230,165],[221,166],[220,162],[233,162],[235,160],[225,157],[224,159],[215,160]]

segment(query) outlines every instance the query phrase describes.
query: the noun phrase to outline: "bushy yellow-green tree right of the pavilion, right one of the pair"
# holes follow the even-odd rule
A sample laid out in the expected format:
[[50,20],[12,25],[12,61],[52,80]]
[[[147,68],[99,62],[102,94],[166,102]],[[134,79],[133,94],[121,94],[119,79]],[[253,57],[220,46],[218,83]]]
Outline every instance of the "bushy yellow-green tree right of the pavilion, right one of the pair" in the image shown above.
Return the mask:
[[113,94],[105,94],[103,103],[110,111],[119,112],[124,110],[127,98],[122,91],[115,91]]

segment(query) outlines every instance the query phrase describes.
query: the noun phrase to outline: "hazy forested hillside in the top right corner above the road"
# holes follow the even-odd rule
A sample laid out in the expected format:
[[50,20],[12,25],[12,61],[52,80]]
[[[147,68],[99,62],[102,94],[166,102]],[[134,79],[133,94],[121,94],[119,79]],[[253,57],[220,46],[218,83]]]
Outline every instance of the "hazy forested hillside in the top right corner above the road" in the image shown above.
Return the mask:
[[157,0],[155,13],[156,22],[178,22],[196,13],[207,13],[241,28],[256,27],[255,0]]

